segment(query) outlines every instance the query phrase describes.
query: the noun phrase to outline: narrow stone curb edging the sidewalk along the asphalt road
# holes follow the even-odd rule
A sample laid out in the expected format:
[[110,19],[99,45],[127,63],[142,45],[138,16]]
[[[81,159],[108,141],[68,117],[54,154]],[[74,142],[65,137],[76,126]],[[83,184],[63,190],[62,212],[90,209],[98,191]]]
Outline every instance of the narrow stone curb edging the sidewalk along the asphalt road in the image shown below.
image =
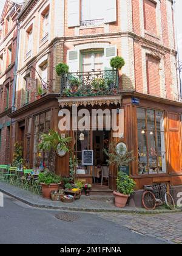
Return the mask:
[[177,210],[153,210],[153,211],[142,211],[142,210],[124,210],[124,209],[89,209],[89,208],[78,208],[78,207],[62,207],[62,206],[53,206],[53,205],[43,205],[43,204],[33,204],[32,202],[29,202],[21,197],[15,196],[14,194],[3,190],[0,188],[0,191],[4,194],[7,194],[7,196],[11,196],[15,198],[18,201],[23,202],[24,204],[27,204],[31,207],[35,208],[42,208],[42,209],[49,209],[49,210],[68,210],[72,212],[90,212],[90,213],[133,213],[133,214],[140,214],[140,215],[156,215],[156,214],[162,214],[162,213],[180,213],[182,212],[182,209]]

